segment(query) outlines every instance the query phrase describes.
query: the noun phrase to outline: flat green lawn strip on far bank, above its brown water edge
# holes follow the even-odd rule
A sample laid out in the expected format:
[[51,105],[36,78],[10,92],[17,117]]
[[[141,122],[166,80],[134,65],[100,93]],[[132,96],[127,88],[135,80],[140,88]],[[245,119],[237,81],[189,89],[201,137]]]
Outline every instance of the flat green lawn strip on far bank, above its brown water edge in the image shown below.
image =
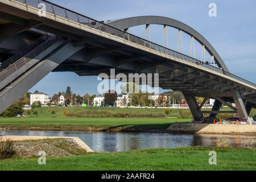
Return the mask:
[[171,123],[188,122],[191,119],[174,118],[0,118],[0,127],[14,127],[14,129],[29,129],[28,127],[57,127],[56,129],[75,128],[132,128],[132,129],[160,129],[166,130]]

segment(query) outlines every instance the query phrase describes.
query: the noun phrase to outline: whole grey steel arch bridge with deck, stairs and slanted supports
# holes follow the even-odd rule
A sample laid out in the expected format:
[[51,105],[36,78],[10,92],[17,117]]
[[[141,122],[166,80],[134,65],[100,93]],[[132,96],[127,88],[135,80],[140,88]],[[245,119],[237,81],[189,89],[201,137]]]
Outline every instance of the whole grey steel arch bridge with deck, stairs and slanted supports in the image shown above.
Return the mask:
[[[163,46],[150,41],[150,24],[163,26]],[[129,33],[141,25],[146,26],[145,39]],[[196,120],[203,121],[204,113],[215,118],[227,112],[246,119],[256,108],[256,85],[230,73],[207,39],[175,19],[138,16],[100,22],[48,1],[0,0],[0,26],[0,113],[49,72],[110,75],[112,68],[126,75],[158,73],[159,87],[182,92]],[[168,26],[179,32],[177,51],[168,48]],[[189,56],[183,54],[182,33],[191,36]],[[201,44],[201,60],[195,59],[195,40]],[[201,106],[214,98],[212,110],[202,111],[195,97],[204,97]],[[222,105],[232,111],[220,111]]]

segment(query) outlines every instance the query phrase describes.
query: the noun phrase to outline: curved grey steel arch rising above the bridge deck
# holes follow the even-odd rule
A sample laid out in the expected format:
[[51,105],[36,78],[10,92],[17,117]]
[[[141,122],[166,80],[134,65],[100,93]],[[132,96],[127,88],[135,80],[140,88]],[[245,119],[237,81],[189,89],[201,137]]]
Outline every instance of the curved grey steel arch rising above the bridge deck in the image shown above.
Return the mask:
[[226,72],[229,72],[224,61],[221,59],[220,55],[218,55],[213,46],[208,42],[208,40],[205,39],[203,35],[199,34],[199,32],[189,27],[187,24],[179,22],[178,20],[164,16],[134,16],[130,18],[111,20],[105,23],[121,30],[126,30],[127,28],[140,26],[143,24],[162,24],[163,26],[177,28],[178,30],[184,31],[191,37],[194,37],[201,45],[204,45],[210,56],[214,56],[214,60],[216,61],[218,67],[222,68]]

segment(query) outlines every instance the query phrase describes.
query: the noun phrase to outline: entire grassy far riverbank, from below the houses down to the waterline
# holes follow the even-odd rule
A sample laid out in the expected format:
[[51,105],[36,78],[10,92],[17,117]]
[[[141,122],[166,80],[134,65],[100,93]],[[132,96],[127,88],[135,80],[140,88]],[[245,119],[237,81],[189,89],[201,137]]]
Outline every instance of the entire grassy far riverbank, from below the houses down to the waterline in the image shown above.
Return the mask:
[[[55,117],[52,117],[52,110],[55,110]],[[67,110],[66,114],[64,114],[64,110]],[[177,118],[181,109],[170,110],[171,113],[167,116],[164,114],[164,108],[39,107],[34,109],[37,111],[37,115],[32,114],[32,112],[26,118],[0,118],[0,128],[12,130],[162,132],[176,121],[189,122],[192,120],[192,118]],[[89,116],[94,114],[97,117],[77,117],[77,114],[82,112],[85,112],[84,115],[89,113]],[[128,117],[98,117],[98,115],[104,116],[108,113],[127,114]]]

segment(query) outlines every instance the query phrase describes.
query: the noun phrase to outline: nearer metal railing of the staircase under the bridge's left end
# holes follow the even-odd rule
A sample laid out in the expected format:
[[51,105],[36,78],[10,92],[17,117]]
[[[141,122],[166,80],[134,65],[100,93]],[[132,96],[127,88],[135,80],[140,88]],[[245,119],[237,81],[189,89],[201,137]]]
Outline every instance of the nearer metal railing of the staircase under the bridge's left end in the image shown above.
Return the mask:
[[49,46],[51,46],[53,43],[59,40],[58,36],[56,35],[46,36],[46,38],[47,39],[45,39],[44,42],[38,45],[38,47],[34,48],[31,52],[27,53],[27,55],[23,56],[22,58],[17,60],[15,63],[11,64],[9,67],[4,69],[0,73],[0,82],[2,82],[3,80],[5,80],[5,78],[9,77],[11,74],[16,72],[19,68],[23,67],[23,65],[29,63],[34,57],[38,56],[40,53],[46,50]]

